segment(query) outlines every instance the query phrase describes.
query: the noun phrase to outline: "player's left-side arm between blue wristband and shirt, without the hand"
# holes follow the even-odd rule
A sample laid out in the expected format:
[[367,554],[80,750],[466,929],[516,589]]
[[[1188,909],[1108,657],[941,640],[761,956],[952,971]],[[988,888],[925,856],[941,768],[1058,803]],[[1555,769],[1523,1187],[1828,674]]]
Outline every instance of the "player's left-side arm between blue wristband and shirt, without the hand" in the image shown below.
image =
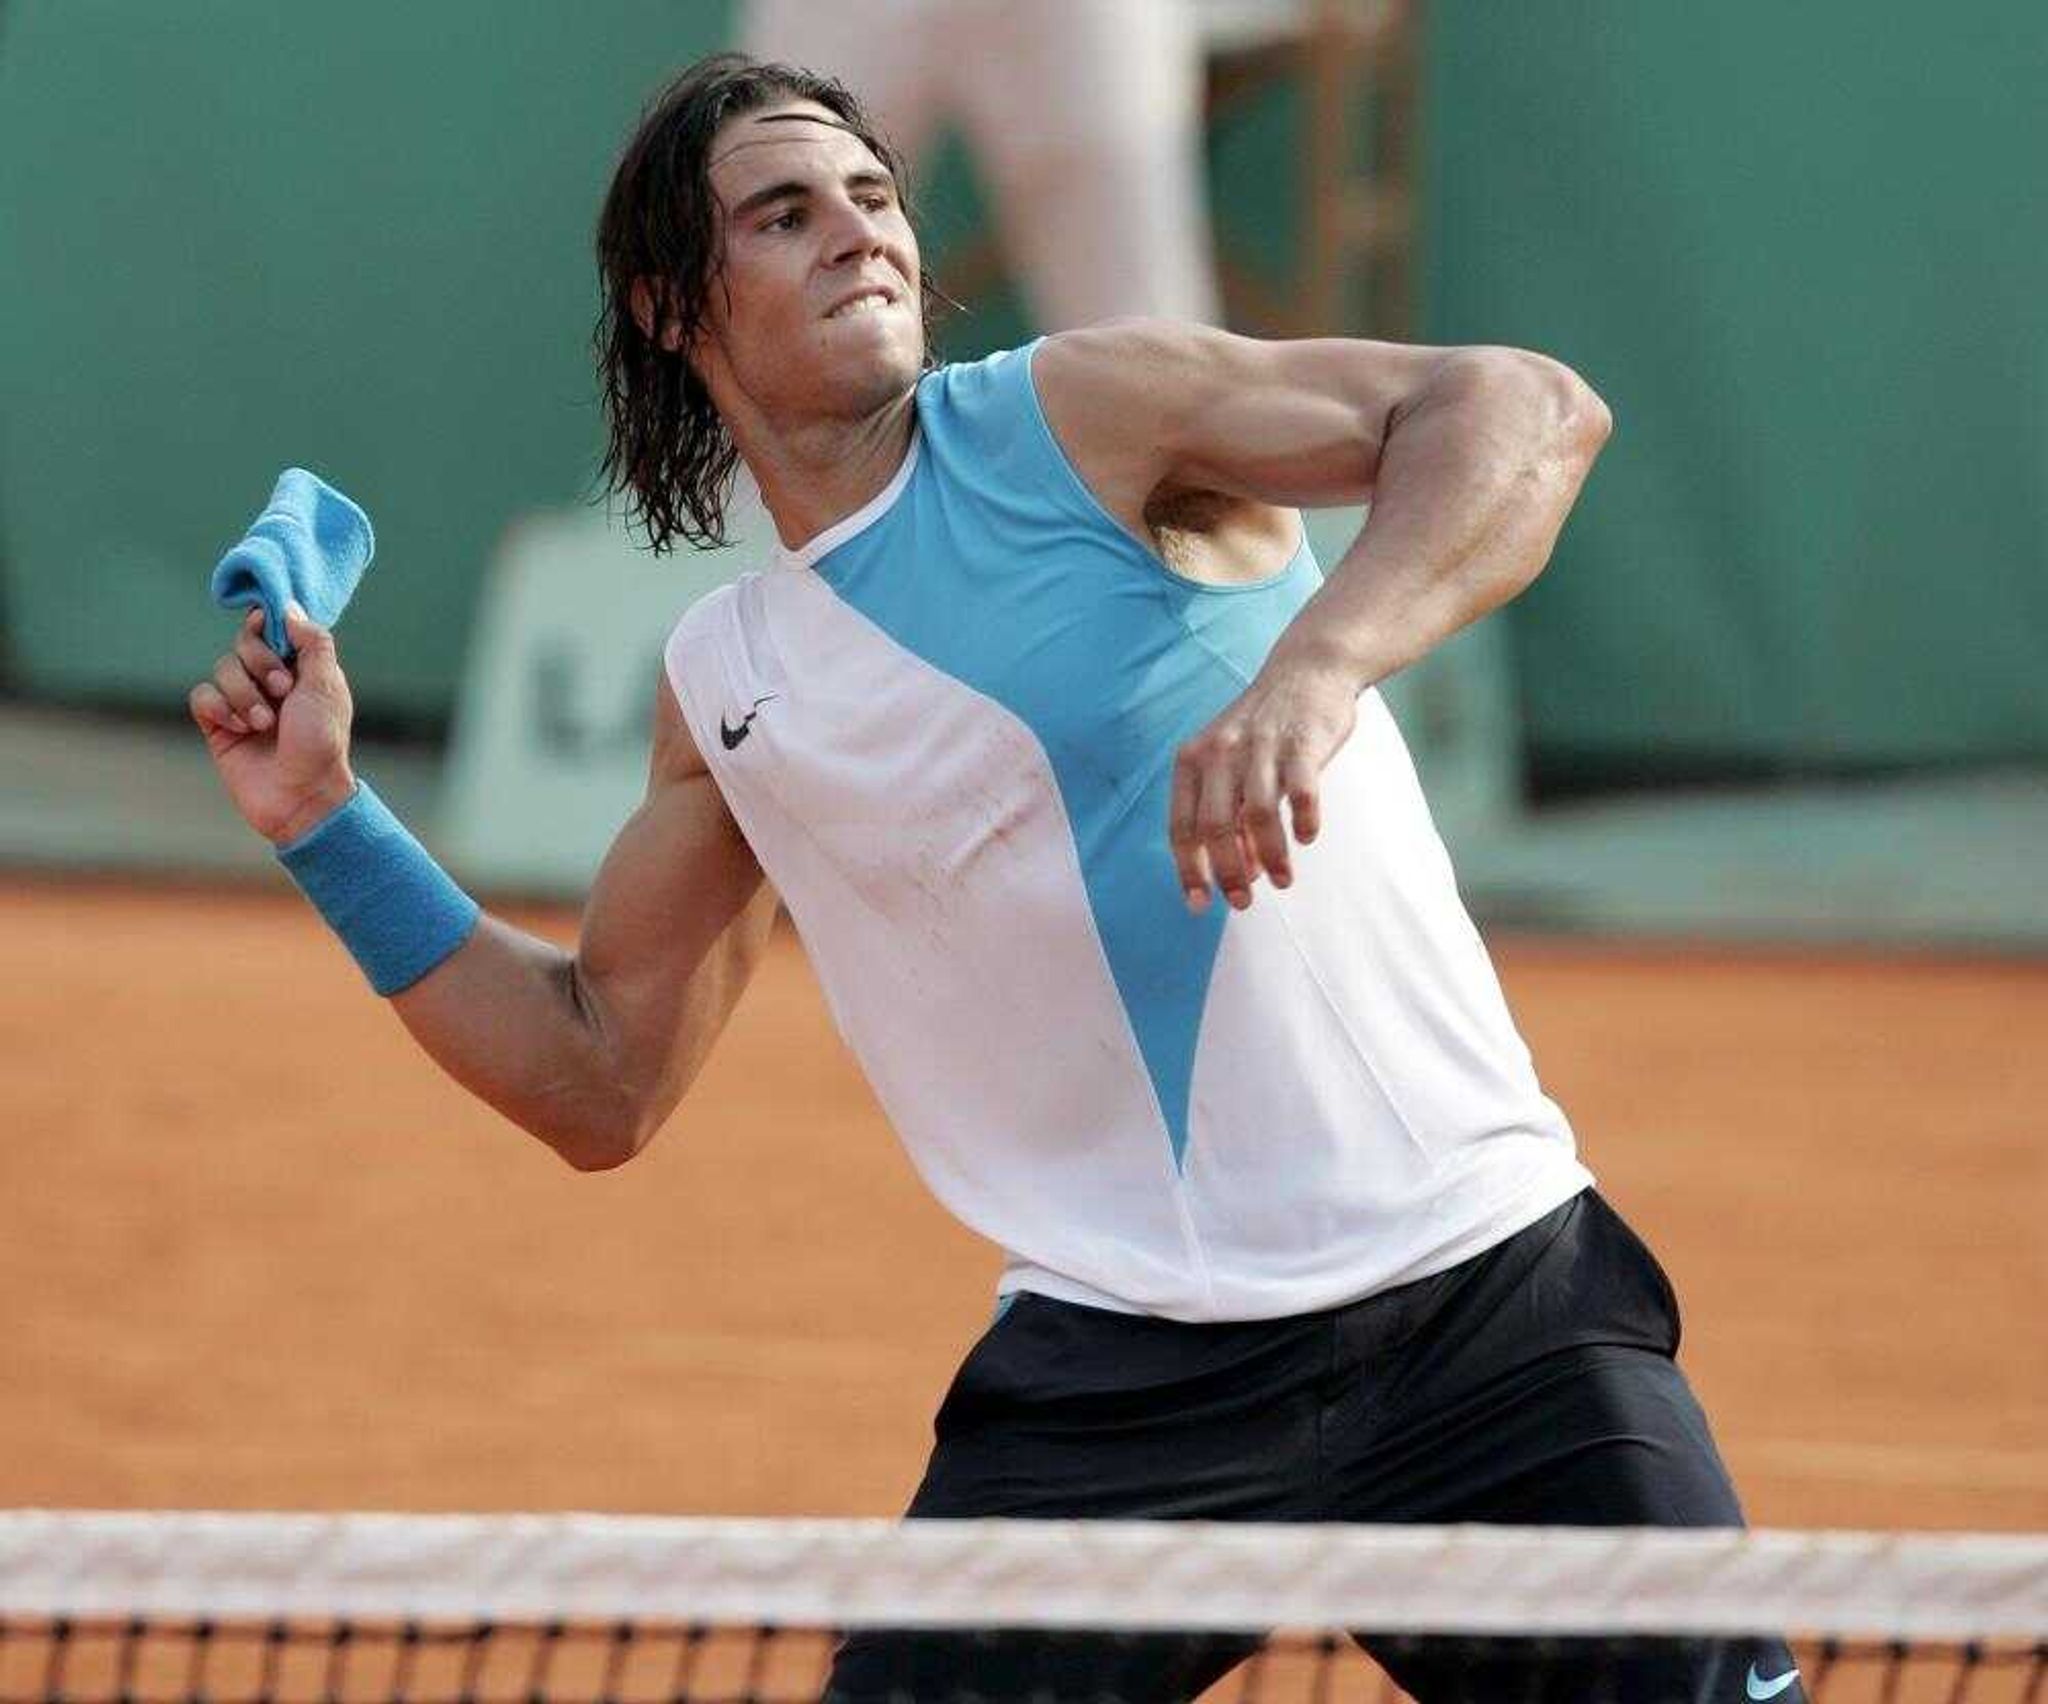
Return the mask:
[[575,952],[485,915],[391,1004],[451,1077],[571,1165],[621,1165],[711,1053],[774,907],[664,680],[647,797],[598,870]]

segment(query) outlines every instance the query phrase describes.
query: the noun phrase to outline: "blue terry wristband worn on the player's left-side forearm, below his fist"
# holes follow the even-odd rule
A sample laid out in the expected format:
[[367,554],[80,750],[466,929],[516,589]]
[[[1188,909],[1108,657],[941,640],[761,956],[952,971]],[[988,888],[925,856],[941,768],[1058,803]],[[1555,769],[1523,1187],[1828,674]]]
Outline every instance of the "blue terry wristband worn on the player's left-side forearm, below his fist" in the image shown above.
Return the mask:
[[412,987],[469,940],[481,915],[362,780],[276,858],[377,993]]

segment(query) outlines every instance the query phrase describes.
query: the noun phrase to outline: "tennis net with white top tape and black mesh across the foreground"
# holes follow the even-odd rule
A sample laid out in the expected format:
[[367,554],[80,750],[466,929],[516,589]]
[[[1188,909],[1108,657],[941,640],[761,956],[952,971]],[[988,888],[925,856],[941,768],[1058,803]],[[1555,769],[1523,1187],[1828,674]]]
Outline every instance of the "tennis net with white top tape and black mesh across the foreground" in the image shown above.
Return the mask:
[[2048,1536],[0,1514],[0,1704],[2040,1704],[2044,1638]]

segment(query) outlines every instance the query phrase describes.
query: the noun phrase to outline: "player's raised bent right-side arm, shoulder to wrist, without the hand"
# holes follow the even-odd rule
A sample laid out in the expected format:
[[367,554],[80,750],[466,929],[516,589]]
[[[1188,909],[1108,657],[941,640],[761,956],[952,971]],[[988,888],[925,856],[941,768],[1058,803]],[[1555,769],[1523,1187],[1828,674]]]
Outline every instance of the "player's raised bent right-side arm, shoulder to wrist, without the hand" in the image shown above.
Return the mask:
[[1124,518],[1176,489],[1370,498],[1282,641],[1358,690],[1536,578],[1610,428],[1571,369],[1511,348],[1124,322],[1049,340],[1034,373],[1061,444]]

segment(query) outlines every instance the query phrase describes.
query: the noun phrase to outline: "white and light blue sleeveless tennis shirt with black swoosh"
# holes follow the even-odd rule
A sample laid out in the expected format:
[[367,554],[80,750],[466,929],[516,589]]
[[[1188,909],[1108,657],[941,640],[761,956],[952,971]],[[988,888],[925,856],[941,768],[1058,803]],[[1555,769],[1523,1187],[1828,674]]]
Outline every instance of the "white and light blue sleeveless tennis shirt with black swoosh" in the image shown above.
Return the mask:
[[1270,1319],[1454,1266],[1591,1178],[1407,748],[1366,692],[1294,885],[1186,909],[1176,748],[1321,573],[1167,569],[1063,455],[1032,348],[924,375],[889,485],[682,616],[690,731],[1004,1292]]

